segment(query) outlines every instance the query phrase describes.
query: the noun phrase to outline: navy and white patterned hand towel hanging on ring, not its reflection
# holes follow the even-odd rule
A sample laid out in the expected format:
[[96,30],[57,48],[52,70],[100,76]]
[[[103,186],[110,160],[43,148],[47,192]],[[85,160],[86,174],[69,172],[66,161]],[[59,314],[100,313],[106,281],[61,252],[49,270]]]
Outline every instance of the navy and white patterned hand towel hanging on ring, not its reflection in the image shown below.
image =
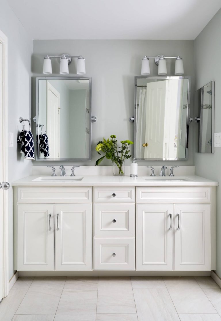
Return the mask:
[[22,144],[21,153],[24,153],[24,159],[34,160],[34,139],[32,132],[23,130],[17,140],[18,144]]

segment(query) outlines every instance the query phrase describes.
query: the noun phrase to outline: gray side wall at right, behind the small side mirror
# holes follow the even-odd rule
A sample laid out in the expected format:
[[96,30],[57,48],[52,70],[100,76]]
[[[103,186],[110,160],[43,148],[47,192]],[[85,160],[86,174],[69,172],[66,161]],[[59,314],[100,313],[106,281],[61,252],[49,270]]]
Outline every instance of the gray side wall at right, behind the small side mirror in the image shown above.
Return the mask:
[[[221,132],[221,9],[195,39],[195,89],[215,81],[215,133]],[[221,181],[221,148],[214,154],[195,153],[196,174]],[[217,274],[221,277],[221,188],[217,187]]]

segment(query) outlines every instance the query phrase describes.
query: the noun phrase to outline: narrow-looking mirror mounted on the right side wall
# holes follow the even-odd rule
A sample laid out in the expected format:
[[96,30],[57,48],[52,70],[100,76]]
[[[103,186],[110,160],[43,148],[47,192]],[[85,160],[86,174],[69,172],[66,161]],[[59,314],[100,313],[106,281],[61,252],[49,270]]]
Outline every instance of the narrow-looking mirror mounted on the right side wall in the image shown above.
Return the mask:
[[195,93],[198,153],[214,153],[214,81]]

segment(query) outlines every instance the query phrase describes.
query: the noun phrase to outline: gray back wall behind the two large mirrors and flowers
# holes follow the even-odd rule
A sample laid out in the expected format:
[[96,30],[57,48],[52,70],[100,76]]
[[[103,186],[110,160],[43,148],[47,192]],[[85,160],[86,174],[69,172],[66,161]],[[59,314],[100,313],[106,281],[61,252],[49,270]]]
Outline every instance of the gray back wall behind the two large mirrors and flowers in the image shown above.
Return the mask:
[[[78,162],[79,165],[95,165],[98,154],[97,142],[103,137],[116,134],[118,141],[133,140],[134,125],[128,119],[134,115],[134,76],[141,74],[144,55],[182,56],[185,75],[191,76],[191,92],[194,92],[194,41],[193,40],[34,40],[33,76],[42,76],[45,55],[82,54],[85,58],[86,77],[92,77],[92,115],[97,122],[92,124],[92,161]],[[76,59],[69,65],[69,76],[76,75]],[[157,66],[150,60],[151,75],[157,75]],[[173,59],[167,60],[168,75],[174,75]],[[60,61],[52,59],[53,76],[59,74]],[[35,78],[33,77],[33,92]],[[191,97],[193,101],[193,96]],[[33,110],[35,98],[33,97]],[[193,108],[193,105],[191,105]],[[35,111],[33,111],[35,114]],[[193,115],[193,111],[191,111]],[[174,161],[180,165],[193,165],[192,124],[189,130],[189,159]],[[132,148],[133,149],[133,148]],[[133,152],[133,151],[132,151]],[[145,164],[159,165],[157,161]],[[37,161],[34,165],[45,165]],[[48,164],[48,163],[47,163]],[[74,164],[71,162],[71,164]],[[110,165],[104,160],[102,165]],[[127,161],[130,164],[130,160]],[[144,162],[139,162],[143,164]]]

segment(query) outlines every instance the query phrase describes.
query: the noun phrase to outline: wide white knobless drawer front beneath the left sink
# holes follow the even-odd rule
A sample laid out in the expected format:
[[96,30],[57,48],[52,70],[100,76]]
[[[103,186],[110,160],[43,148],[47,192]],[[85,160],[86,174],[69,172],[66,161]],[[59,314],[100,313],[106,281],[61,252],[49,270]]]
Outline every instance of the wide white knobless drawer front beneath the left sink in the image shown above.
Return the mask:
[[92,203],[92,187],[17,187],[18,203]]

